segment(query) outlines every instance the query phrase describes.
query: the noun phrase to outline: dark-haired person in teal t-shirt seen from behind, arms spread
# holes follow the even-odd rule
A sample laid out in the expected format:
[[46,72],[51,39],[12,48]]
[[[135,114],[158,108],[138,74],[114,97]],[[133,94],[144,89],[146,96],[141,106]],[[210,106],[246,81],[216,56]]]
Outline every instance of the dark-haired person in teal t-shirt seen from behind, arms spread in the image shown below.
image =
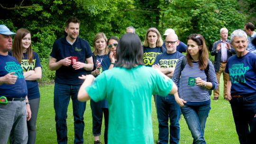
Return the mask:
[[108,101],[108,144],[154,144],[152,94],[166,96],[177,92],[171,79],[144,66],[141,47],[136,34],[125,34],[117,47],[116,67],[96,79],[92,75],[79,77],[85,80],[78,92],[79,100]]

